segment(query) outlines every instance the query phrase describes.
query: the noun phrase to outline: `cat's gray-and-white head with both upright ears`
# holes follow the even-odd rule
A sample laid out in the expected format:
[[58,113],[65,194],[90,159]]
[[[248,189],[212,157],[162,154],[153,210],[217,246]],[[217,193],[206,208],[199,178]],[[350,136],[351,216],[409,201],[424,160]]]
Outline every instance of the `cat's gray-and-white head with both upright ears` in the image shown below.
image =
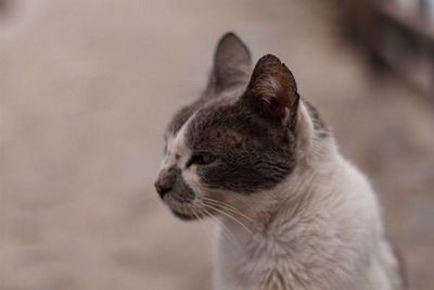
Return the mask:
[[263,56],[252,72],[247,48],[227,34],[204,93],[167,128],[155,182],[161,198],[183,219],[242,211],[294,171],[306,139],[301,127],[315,126],[298,116],[306,108],[278,58]]

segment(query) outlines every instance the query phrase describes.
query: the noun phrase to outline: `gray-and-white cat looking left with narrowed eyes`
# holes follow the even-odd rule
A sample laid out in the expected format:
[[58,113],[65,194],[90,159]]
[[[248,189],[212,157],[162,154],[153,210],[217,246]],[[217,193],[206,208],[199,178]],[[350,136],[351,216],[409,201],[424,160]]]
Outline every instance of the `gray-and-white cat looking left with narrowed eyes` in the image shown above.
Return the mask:
[[217,290],[400,290],[379,201],[293,74],[217,45],[202,96],[165,134],[155,187],[175,216],[217,218]]

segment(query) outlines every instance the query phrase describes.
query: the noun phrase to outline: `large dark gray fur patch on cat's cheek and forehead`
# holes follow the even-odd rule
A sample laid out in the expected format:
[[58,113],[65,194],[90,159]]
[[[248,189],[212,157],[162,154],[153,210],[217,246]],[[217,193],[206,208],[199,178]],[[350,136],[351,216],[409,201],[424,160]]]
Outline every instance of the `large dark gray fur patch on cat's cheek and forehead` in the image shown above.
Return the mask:
[[293,133],[272,126],[241,102],[200,110],[186,137],[193,154],[217,156],[212,164],[197,165],[200,180],[208,188],[244,194],[271,189],[295,166]]

